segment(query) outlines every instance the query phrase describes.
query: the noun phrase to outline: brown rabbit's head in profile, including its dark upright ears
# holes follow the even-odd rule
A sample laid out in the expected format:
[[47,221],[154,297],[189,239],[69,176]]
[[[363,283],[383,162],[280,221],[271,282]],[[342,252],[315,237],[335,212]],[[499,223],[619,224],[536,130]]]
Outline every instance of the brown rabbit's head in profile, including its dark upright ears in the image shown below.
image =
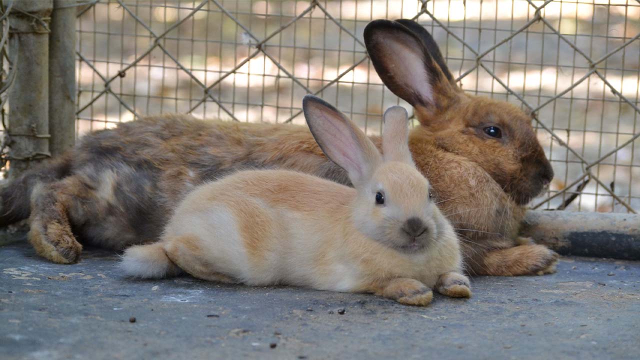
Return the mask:
[[417,22],[374,20],[364,39],[382,81],[415,109],[422,126],[412,136],[477,163],[518,204],[550,183],[554,172],[531,117],[508,102],[465,94]]

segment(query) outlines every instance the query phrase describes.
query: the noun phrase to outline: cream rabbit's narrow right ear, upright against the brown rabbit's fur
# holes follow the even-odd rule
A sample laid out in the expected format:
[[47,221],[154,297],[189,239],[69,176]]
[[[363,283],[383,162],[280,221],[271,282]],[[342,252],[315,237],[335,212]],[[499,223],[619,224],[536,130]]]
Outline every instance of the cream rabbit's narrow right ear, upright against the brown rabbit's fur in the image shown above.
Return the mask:
[[392,106],[383,115],[382,153],[385,161],[414,165],[409,151],[409,117],[402,106]]

